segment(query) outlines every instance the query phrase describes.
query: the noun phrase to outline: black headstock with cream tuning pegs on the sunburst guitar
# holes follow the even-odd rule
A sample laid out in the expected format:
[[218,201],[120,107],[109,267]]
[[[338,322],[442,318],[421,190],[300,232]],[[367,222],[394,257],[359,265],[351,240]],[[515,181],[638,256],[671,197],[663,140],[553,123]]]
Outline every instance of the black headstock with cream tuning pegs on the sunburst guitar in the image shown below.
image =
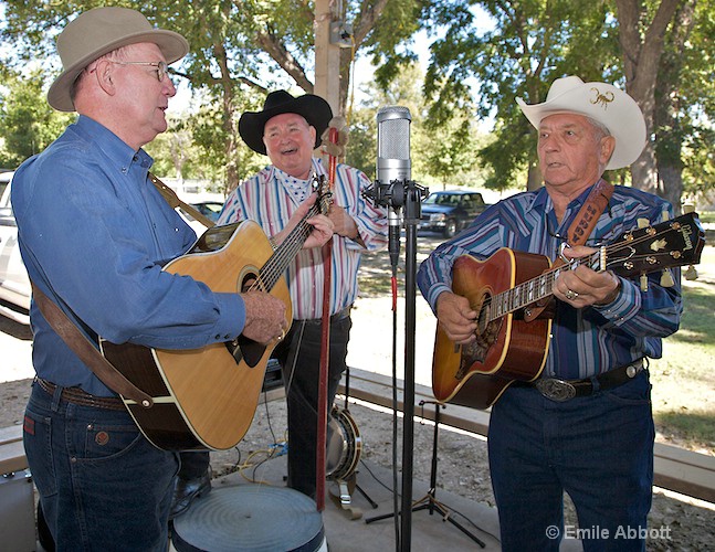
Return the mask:
[[700,263],[705,231],[697,213],[632,230],[607,247],[607,268],[635,276],[674,266]]

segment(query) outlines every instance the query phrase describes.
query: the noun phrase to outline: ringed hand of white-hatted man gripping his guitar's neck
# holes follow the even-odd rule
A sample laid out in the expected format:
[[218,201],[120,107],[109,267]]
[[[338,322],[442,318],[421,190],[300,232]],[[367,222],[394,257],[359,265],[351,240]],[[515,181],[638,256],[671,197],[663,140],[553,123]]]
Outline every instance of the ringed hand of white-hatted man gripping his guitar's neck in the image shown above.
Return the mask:
[[[576,245],[564,250],[567,258],[580,258],[596,253],[598,250]],[[556,298],[583,308],[591,305],[608,305],[613,302],[621,289],[621,280],[611,270],[596,272],[586,264],[572,270],[562,270],[554,283]]]

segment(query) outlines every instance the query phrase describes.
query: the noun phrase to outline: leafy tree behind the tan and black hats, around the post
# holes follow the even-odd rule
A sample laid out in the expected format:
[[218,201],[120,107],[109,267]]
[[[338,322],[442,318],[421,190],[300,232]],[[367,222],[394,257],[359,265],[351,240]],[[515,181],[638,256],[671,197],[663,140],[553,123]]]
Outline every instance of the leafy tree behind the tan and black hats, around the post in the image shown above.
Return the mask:
[[[14,45],[12,61],[40,59],[56,71],[51,39],[78,12],[105,2],[7,0],[2,3],[7,19],[0,40]],[[194,91],[206,91],[219,103],[219,117],[214,120],[219,124],[215,130],[220,128],[223,139],[223,159],[219,167],[224,168],[227,187],[233,185],[241,172],[242,153],[239,151],[243,146],[238,135],[238,116],[244,109],[261,107],[254,92],[259,91],[261,98],[266,91],[276,87],[297,86],[304,92],[313,92],[315,15],[309,2],[155,0],[114,4],[135,8],[151,22],[176,30],[188,39],[191,52],[174,75],[185,78]],[[409,40],[421,2],[356,0],[341,6],[344,19],[354,28],[354,47],[341,52],[340,62],[340,95],[347,98],[349,66],[355,52],[365,47],[377,56],[400,41]],[[201,137],[208,139],[206,134],[200,134],[198,139]],[[212,147],[210,142],[207,146]]]

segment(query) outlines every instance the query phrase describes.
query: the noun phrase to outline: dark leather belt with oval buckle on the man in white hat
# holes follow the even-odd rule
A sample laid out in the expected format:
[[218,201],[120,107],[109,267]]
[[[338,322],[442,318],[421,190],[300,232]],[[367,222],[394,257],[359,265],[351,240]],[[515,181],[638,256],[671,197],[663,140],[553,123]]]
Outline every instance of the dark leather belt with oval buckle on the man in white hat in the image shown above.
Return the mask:
[[[517,382],[517,386],[536,388],[546,399],[556,402],[570,401],[577,396],[589,396],[597,391],[618,388],[635,378],[643,370],[643,359],[614,368],[602,374],[583,380],[559,380],[541,378],[533,382]],[[597,385],[595,384],[598,383]]]

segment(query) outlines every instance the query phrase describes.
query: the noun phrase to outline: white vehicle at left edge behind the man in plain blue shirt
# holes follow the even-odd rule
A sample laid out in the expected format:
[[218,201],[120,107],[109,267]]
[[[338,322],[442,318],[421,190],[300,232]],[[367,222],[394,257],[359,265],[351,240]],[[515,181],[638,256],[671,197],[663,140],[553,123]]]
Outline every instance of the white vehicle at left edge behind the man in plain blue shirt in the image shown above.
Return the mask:
[[10,205],[14,172],[0,174],[0,314],[30,323],[30,279],[20,257],[18,225]]

